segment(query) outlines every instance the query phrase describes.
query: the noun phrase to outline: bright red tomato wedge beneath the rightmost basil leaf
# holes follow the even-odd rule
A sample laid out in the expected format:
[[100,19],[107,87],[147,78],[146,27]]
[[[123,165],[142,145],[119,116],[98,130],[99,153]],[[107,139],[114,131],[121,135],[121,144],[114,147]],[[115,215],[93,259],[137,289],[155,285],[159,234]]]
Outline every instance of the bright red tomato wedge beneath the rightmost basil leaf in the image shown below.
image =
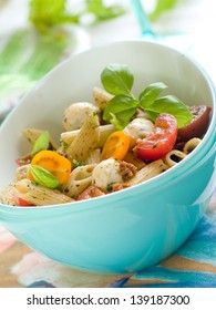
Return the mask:
[[134,154],[143,161],[156,161],[165,156],[176,142],[177,121],[167,113],[161,113],[155,121],[153,132],[137,141]]

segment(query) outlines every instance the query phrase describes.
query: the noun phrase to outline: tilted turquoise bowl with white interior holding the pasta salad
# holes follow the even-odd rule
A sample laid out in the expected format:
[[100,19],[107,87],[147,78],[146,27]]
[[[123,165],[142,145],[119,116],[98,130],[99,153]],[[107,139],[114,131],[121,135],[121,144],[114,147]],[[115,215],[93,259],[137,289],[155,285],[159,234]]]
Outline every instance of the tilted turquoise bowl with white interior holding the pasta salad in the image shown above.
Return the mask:
[[91,100],[100,72],[127,63],[134,92],[164,82],[187,104],[212,106],[202,143],[172,169],[105,197],[44,207],[0,205],[0,223],[30,248],[72,268],[135,272],[158,264],[192,234],[213,195],[216,176],[216,94],[207,73],[188,56],[153,42],[115,42],[80,53],[56,66],[17,105],[0,127],[0,188],[13,179],[14,159],[28,148],[21,130],[61,133],[65,106]]

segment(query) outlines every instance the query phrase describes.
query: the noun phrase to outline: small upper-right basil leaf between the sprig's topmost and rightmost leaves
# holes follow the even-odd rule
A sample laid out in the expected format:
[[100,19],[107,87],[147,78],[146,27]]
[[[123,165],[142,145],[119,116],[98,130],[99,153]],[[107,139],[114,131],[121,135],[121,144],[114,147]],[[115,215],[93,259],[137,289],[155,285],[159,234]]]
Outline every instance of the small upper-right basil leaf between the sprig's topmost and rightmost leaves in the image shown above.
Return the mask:
[[153,83],[145,87],[140,94],[140,105],[145,108],[154,104],[155,100],[158,97],[161,92],[163,92],[167,86],[164,83]]

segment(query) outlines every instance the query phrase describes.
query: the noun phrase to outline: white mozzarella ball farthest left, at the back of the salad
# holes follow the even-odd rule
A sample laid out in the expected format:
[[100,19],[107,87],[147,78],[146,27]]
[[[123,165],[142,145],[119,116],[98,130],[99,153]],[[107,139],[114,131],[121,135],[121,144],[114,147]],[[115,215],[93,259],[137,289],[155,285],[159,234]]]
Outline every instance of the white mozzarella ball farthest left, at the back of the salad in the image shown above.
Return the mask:
[[100,113],[100,108],[89,102],[72,103],[64,112],[63,127],[65,131],[79,130],[91,113]]

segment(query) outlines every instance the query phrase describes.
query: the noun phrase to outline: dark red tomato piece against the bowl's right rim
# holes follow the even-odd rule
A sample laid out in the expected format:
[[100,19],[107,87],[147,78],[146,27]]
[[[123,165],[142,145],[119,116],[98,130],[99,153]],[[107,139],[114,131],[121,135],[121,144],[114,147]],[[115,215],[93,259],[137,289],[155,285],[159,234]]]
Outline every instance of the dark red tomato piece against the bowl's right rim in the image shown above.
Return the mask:
[[212,108],[207,105],[194,105],[189,107],[193,120],[178,130],[177,141],[188,141],[193,137],[202,138],[207,131]]

